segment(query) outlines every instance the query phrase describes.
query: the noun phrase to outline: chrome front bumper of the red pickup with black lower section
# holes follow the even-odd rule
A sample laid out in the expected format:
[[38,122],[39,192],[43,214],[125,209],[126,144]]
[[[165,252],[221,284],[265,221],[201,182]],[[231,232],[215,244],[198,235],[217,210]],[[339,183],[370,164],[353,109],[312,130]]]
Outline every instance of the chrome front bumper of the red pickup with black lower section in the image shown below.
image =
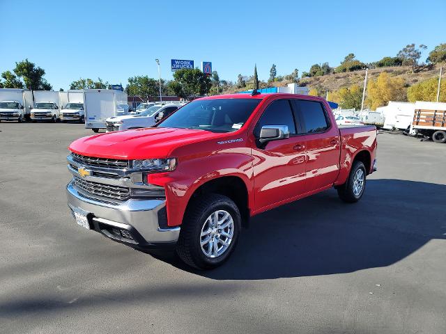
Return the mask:
[[160,228],[159,222],[166,219],[164,200],[103,202],[82,195],[72,182],[67,186],[67,197],[73,215],[75,211],[86,215],[93,230],[114,241],[134,248],[159,248],[172,246],[178,240],[179,227]]

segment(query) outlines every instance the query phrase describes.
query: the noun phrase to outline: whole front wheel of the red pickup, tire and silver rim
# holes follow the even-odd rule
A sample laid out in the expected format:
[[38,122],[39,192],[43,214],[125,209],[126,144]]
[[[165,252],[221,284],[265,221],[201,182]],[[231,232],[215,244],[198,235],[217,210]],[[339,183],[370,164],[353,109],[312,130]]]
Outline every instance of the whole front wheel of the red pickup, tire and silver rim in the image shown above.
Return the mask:
[[218,194],[201,196],[185,214],[176,253],[197,269],[219,267],[235,248],[240,228],[240,212],[230,198]]

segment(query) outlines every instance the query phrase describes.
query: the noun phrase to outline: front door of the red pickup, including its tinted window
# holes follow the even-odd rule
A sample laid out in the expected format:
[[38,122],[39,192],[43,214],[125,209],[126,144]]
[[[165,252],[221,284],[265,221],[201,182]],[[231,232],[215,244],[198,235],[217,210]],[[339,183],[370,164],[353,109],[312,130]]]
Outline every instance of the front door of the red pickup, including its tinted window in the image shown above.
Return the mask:
[[305,138],[298,135],[290,100],[275,100],[266,107],[254,128],[255,138],[263,125],[287,125],[290,138],[266,145],[256,141],[252,149],[256,210],[300,196],[307,189]]

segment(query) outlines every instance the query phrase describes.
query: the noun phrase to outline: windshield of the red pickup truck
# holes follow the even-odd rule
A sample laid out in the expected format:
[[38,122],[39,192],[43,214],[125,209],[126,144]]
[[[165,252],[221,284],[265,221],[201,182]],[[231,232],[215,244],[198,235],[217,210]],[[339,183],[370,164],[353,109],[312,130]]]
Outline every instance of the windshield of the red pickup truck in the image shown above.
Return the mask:
[[261,99],[195,100],[174,112],[158,127],[233,132],[243,127]]

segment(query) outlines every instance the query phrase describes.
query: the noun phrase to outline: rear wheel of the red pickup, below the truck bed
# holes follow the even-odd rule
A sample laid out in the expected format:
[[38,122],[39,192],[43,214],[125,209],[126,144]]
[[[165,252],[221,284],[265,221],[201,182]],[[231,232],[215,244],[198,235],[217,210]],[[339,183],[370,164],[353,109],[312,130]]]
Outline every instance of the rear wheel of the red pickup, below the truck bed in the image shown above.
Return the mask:
[[354,203],[361,199],[365,189],[366,170],[361,161],[355,161],[351,166],[347,182],[337,188],[337,193],[341,200]]

